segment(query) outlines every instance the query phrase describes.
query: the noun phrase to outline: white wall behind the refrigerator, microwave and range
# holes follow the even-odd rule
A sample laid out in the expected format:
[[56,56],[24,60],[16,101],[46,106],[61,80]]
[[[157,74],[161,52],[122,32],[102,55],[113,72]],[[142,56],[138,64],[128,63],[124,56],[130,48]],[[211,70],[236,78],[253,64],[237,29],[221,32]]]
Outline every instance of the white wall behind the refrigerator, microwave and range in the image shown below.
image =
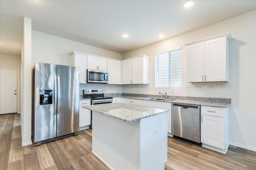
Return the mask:
[[[71,51],[122,60],[120,53],[32,30],[32,66],[35,62],[70,65],[69,53]],[[80,84],[80,94],[83,93],[83,89],[96,88],[105,89],[105,93],[122,93],[122,86],[120,85],[90,83]]]

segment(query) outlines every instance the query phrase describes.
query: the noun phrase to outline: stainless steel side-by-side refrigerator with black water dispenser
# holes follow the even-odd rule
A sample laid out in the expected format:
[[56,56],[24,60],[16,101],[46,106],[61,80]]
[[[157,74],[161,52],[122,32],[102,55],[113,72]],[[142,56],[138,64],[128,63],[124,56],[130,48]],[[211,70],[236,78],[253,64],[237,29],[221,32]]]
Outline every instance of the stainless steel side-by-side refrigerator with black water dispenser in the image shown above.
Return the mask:
[[33,67],[33,143],[77,135],[79,68],[35,63]]

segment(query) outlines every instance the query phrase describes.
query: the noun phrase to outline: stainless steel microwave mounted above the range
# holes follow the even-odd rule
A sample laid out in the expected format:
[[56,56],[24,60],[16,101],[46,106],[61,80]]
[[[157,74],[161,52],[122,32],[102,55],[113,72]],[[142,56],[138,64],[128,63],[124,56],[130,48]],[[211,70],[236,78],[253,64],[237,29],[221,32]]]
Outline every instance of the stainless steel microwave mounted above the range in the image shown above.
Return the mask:
[[108,71],[87,69],[88,83],[108,83]]

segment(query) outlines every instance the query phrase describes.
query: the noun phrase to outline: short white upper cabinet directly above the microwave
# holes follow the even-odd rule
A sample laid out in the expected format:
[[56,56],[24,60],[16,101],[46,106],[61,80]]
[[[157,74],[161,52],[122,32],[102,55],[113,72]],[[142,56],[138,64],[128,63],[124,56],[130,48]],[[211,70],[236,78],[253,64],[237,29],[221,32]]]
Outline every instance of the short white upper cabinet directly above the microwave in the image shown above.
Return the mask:
[[107,68],[107,59],[87,55],[87,69],[106,71]]

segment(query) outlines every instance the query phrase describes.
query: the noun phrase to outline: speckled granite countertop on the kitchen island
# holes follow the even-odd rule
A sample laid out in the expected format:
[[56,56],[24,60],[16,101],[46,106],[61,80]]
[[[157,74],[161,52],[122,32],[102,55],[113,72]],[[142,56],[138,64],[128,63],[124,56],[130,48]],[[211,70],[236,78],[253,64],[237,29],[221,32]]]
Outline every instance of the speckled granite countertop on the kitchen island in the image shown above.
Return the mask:
[[125,103],[98,104],[82,107],[126,122],[140,120],[168,111],[167,109]]

